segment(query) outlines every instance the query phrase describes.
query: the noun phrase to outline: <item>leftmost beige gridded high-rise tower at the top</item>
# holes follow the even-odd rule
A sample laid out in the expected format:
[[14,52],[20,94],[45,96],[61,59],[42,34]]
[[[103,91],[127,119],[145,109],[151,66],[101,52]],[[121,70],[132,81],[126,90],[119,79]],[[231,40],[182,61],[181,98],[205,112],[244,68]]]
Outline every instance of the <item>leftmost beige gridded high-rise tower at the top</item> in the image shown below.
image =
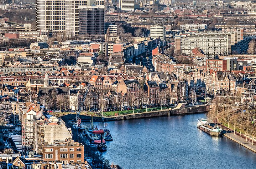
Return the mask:
[[36,30],[65,31],[65,1],[36,0]]

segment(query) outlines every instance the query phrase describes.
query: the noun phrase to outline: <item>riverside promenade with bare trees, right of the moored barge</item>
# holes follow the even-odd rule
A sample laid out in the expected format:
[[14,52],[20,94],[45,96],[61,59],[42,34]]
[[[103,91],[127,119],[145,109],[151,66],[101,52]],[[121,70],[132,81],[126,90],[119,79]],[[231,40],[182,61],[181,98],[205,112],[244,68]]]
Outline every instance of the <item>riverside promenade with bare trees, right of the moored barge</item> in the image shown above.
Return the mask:
[[[226,133],[224,133],[224,136],[233,140],[234,142],[237,142],[238,144],[241,144],[242,146],[252,150],[253,152],[256,152],[256,139],[253,139],[253,145],[252,145],[252,138],[251,137],[247,137],[244,134],[241,134],[241,138],[240,138],[240,134],[239,132],[235,132],[234,135],[234,130],[231,130],[226,126],[222,126],[224,128],[224,131]],[[247,141],[246,141],[246,137],[247,137]]]

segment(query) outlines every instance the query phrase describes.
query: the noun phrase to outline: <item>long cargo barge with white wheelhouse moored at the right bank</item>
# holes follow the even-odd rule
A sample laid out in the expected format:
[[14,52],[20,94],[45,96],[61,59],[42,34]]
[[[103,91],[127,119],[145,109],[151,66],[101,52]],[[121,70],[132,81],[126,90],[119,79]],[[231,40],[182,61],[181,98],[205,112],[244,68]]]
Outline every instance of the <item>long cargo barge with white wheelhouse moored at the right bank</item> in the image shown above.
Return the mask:
[[223,130],[218,125],[210,126],[205,118],[198,119],[197,127],[212,136],[221,136],[223,134]]

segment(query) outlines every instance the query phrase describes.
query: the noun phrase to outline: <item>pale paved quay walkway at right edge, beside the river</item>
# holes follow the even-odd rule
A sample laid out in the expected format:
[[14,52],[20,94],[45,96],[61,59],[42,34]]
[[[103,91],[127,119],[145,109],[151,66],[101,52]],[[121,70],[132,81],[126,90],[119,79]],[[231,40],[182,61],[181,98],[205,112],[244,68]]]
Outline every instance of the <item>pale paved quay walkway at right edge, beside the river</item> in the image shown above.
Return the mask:
[[240,138],[239,133],[238,135],[234,135],[234,133],[225,133],[224,136],[233,140],[234,142],[237,142],[238,144],[241,144],[242,146],[252,150],[253,152],[256,152],[256,146],[255,142],[254,145],[252,145],[252,140],[248,138],[248,141],[246,142],[245,138]]

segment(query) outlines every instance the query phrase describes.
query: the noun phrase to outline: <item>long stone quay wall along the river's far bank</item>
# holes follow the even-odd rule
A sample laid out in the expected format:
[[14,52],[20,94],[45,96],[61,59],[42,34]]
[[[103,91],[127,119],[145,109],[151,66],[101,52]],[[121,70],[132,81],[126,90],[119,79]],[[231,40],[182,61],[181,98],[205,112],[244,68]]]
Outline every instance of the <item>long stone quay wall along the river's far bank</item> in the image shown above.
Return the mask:
[[179,109],[165,109],[152,112],[142,112],[134,114],[123,114],[118,116],[111,116],[108,118],[115,120],[126,120],[134,118],[146,118],[146,117],[159,117],[159,116],[171,116],[171,115],[181,115],[181,114],[195,114],[195,113],[206,113],[209,112],[209,106],[200,105],[194,107],[185,107]]

